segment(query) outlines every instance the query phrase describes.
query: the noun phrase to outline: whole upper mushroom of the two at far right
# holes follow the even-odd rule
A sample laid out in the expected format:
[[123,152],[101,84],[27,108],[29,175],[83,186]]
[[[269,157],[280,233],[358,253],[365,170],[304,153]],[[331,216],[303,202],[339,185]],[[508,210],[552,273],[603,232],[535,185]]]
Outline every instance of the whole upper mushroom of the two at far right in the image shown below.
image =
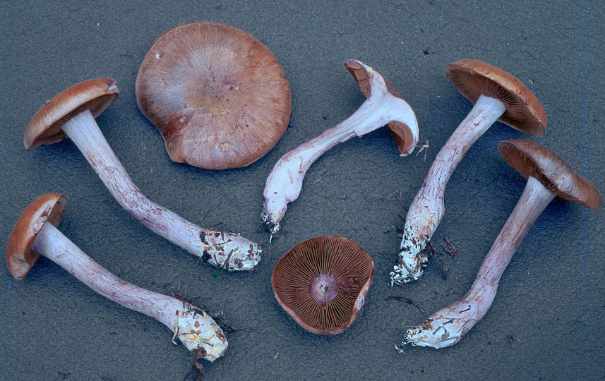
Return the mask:
[[399,263],[390,273],[391,286],[421,277],[429,260],[426,242],[445,214],[445,185],[473,143],[496,120],[531,135],[543,135],[546,129],[542,105],[513,75],[470,59],[451,63],[445,73],[474,107],[435,157],[408,209]]

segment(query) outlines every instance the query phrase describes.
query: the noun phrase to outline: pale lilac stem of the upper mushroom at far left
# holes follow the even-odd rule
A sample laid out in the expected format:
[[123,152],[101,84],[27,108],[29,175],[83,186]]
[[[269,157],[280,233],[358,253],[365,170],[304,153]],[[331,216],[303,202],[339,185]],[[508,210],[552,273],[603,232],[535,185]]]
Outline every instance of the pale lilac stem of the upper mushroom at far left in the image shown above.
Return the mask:
[[149,200],[128,176],[88,109],[61,128],[119,204],[155,234],[224,270],[251,270],[258,264],[256,243],[239,234],[203,229]]

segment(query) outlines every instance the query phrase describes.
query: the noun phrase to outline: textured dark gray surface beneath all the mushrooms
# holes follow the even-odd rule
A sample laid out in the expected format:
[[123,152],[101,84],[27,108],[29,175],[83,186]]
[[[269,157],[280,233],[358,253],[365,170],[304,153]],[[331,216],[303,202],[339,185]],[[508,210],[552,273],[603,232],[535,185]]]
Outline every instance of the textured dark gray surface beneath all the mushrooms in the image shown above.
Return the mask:
[[[460,298],[522,192],[524,181],[496,143],[530,138],[550,147],[605,190],[601,167],[605,12],[597,1],[1,1],[0,94],[4,127],[0,243],[38,195],[64,193],[61,231],[85,253],[138,286],[181,291],[237,327],[209,380],[602,380],[605,375],[605,214],[556,199],[505,271],[491,310],[450,349],[406,348],[408,325]],[[174,164],[134,97],[138,66],[174,25],[212,20],[250,32],[280,60],[292,88],[290,126],[268,155],[244,169]],[[446,64],[480,59],[520,78],[549,118],[540,138],[496,123],[450,180],[445,219],[433,236],[449,270],[431,262],[420,282],[390,288],[400,238],[391,226],[471,104],[445,77]],[[423,155],[400,158],[385,129],[335,147],[307,174],[273,243],[260,222],[272,165],[335,125],[364,96],[342,63],[375,67],[414,107]],[[202,226],[219,222],[260,243],[258,270],[220,274],[199,264],[119,207],[77,148],[64,141],[23,149],[23,132],[44,101],[81,80],[116,78],[120,97],[97,119],[133,180],[152,200]],[[301,329],[272,295],[275,262],[320,235],[352,238],[376,262],[366,306],[349,331],[319,337]],[[457,258],[445,254],[448,238]],[[1,274],[3,380],[182,380],[189,353],[160,323],[98,296],[49,260],[23,282]],[[412,298],[426,313],[386,296]],[[512,337],[512,341],[507,338]],[[189,375],[191,379],[191,375]]]

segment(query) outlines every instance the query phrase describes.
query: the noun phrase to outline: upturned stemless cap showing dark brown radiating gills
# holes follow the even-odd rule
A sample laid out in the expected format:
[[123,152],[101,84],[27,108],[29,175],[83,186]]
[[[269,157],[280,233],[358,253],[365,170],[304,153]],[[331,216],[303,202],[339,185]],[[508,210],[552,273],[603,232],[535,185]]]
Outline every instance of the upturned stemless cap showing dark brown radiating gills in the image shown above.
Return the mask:
[[[301,327],[316,334],[338,334],[353,324],[364,305],[373,273],[372,258],[357,243],[321,236],[289,250],[275,265],[271,284],[277,301]],[[312,289],[322,278],[334,279],[337,290]],[[314,298],[317,291],[321,296]]]

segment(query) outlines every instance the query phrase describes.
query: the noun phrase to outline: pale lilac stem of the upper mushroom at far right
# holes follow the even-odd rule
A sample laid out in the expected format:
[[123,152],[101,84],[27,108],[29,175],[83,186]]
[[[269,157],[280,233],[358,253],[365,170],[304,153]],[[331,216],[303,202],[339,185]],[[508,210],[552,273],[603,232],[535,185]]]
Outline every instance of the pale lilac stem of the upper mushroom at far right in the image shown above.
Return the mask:
[[399,264],[390,273],[391,286],[421,277],[429,260],[423,251],[445,214],[444,195],[457,165],[469,148],[504,114],[505,105],[496,98],[481,95],[460,126],[456,128],[431,164],[416,198],[412,201],[403,231]]

